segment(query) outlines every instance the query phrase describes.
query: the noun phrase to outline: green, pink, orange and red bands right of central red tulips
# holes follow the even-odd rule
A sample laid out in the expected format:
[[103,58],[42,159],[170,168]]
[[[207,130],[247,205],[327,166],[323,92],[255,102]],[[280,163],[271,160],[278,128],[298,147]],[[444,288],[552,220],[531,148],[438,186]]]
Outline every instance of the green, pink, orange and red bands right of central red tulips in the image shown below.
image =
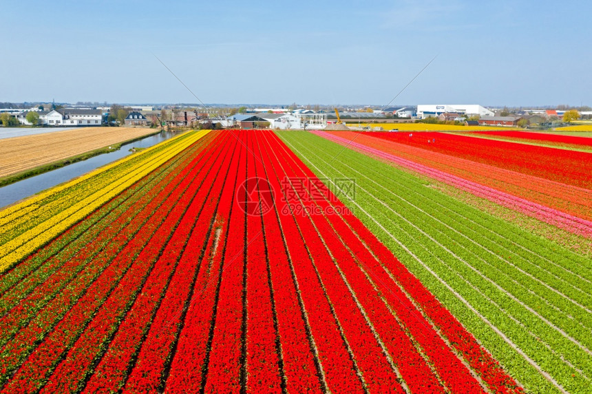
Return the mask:
[[[589,251],[591,179],[581,171],[590,153],[545,151],[564,160],[562,171],[534,176],[545,165],[536,146],[507,146],[510,155],[498,158],[497,141],[442,133],[280,135],[318,177],[356,179],[355,199],[344,199],[346,206],[527,391],[589,391],[590,254],[534,236],[441,193],[437,184],[579,233]],[[491,147],[477,148],[484,143]],[[574,155],[582,161],[570,163]]]

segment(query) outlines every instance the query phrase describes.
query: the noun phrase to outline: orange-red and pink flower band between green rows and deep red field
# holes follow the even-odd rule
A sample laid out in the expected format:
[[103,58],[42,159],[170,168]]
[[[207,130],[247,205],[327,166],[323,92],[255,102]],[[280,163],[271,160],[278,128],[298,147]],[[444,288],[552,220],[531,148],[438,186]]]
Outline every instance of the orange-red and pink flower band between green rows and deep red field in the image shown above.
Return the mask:
[[[492,189],[503,192],[501,194],[507,193],[511,196],[516,196],[518,200],[531,201],[542,207],[539,206],[530,212],[528,211],[528,204],[520,204],[520,212],[531,216],[538,215],[538,212],[544,212],[545,216],[538,215],[536,217],[543,221],[550,220],[556,226],[561,226],[564,218],[570,222],[573,221],[575,224],[573,226],[570,224],[566,228],[569,231],[577,230],[578,219],[580,218],[584,219],[584,221],[592,221],[592,193],[590,193],[589,189],[562,184],[549,179],[478,163],[453,155],[430,151],[423,147],[419,148],[383,138],[374,138],[369,133],[338,131],[319,132],[319,134],[326,138],[337,140],[338,143],[350,146],[352,149],[362,151],[366,149],[364,151],[365,153],[372,155],[375,153],[378,155],[386,153],[387,155],[392,155],[392,157],[384,158],[389,161],[400,159],[399,164],[406,168],[411,168],[413,171],[419,171],[420,173],[426,173],[430,177],[436,177],[443,180],[443,182],[461,187],[471,193],[474,193],[475,186],[477,186],[483,189],[483,193],[479,194],[480,197],[494,199],[496,202],[509,208],[516,205],[517,200],[510,201],[511,199],[507,198],[493,198],[496,197],[496,193]],[[419,133],[414,134],[414,137],[417,134]],[[408,136],[408,134],[406,135]],[[430,144],[432,143],[430,142]],[[438,140],[436,140],[435,144],[438,144]],[[425,142],[425,145],[427,145],[427,142]],[[515,145],[524,146],[522,144]],[[370,151],[374,151],[374,153]],[[553,151],[560,151],[560,149],[553,149]],[[589,153],[589,155],[592,155],[592,153]],[[419,164],[419,166],[415,164]],[[426,169],[430,171],[425,171]],[[503,200],[507,200],[507,204]],[[567,215],[561,215],[562,212],[565,212]],[[584,224],[586,228],[582,231],[587,232],[588,223],[586,222]],[[573,227],[573,229],[570,227]]]

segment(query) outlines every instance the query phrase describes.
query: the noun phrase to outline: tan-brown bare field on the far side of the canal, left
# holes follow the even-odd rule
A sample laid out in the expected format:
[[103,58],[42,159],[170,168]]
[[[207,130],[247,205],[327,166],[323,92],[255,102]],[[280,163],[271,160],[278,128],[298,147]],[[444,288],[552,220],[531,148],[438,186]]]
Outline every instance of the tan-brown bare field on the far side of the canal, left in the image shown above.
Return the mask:
[[6,138],[0,140],[0,178],[134,140],[155,131],[140,127],[87,127]]

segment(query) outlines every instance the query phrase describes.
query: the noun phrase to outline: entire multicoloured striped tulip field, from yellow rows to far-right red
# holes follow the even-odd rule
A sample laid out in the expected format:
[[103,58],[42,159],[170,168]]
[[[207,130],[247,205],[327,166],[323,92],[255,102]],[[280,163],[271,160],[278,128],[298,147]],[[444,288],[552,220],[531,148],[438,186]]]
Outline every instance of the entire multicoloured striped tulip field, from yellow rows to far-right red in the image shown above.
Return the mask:
[[0,392],[589,392],[588,140],[471,134],[189,131],[0,210]]

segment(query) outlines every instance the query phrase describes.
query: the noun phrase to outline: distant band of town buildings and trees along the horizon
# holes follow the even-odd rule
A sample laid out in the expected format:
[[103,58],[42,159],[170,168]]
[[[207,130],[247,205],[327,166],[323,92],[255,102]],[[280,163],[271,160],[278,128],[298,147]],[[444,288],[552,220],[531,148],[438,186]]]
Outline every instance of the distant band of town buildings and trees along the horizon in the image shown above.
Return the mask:
[[589,120],[591,107],[511,108],[478,104],[430,104],[379,107],[371,105],[103,105],[98,102],[0,102],[4,127],[240,127],[252,129],[324,129],[347,122],[360,127],[380,123],[425,122],[465,126],[553,129]]

